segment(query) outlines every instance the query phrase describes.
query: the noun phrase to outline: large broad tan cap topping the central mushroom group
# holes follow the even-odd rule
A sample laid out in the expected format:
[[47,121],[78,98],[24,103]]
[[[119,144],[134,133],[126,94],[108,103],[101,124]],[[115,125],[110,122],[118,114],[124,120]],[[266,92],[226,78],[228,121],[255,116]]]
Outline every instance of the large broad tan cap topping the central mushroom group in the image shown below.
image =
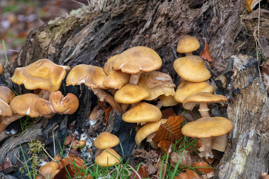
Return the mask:
[[128,74],[138,74],[157,70],[161,64],[161,58],[154,50],[137,46],[121,53],[114,61],[113,69]]

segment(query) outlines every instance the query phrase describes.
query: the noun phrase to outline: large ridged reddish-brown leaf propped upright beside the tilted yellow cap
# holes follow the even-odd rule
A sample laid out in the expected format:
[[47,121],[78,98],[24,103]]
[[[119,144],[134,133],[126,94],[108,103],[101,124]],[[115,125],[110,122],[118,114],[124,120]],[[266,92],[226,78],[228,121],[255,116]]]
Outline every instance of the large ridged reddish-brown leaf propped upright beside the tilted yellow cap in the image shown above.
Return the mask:
[[156,135],[152,138],[153,143],[160,142],[162,140],[171,140],[177,145],[180,142],[176,142],[178,140],[182,140],[181,128],[183,125],[183,118],[181,116],[170,116],[166,123],[161,124],[159,129],[157,130]]

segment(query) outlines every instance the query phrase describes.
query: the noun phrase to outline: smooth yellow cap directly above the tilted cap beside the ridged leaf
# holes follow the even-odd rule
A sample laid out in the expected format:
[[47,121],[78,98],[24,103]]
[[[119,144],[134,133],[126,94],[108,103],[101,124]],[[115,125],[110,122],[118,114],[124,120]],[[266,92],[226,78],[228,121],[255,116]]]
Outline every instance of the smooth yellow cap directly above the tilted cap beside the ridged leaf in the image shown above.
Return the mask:
[[123,115],[123,120],[131,123],[156,122],[160,119],[160,109],[146,102],[139,102]]

